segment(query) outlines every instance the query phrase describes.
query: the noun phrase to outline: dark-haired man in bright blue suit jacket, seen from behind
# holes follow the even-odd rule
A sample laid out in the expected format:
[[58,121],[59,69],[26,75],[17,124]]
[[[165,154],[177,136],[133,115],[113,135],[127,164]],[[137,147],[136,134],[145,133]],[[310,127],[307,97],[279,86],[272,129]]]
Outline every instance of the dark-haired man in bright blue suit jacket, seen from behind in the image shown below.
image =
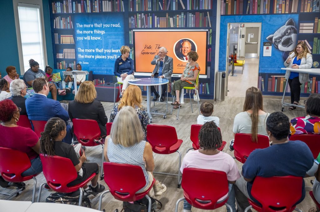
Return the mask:
[[32,87],[36,94],[26,100],[28,118],[35,121],[48,121],[52,117],[60,117],[67,124],[67,135],[63,142],[71,144],[72,131],[67,121],[69,115],[59,101],[48,99],[49,85],[44,78],[36,78],[32,82]]

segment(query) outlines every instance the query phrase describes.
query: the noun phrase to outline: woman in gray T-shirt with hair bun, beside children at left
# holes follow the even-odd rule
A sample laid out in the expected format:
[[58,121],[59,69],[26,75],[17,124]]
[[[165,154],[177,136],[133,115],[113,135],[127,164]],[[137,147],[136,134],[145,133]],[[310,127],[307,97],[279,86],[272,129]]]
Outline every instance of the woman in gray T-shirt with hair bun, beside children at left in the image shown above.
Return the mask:
[[[39,63],[36,62],[33,59],[29,60],[29,65],[30,65],[30,69],[28,69],[24,75],[23,75],[23,80],[26,83],[26,85],[30,88],[32,87],[32,82],[39,77],[43,77],[45,78],[46,81],[49,81],[50,77],[47,77],[45,72],[41,69],[39,69]],[[51,92],[52,95],[52,99],[57,100],[57,88],[54,84],[50,83],[49,84],[49,90]]]

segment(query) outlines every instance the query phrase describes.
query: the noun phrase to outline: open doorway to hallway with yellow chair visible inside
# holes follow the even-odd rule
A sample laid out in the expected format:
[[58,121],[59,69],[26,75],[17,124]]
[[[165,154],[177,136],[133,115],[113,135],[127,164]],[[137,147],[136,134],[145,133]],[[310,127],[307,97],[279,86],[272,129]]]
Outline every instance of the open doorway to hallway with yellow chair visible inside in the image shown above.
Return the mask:
[[[248,88],[258,87],[261,23],[228,23],[227,31],[226,95],[245,97]],[[232,74],[234,53],[237,62],[244,61],[244,65],[234,66]]]

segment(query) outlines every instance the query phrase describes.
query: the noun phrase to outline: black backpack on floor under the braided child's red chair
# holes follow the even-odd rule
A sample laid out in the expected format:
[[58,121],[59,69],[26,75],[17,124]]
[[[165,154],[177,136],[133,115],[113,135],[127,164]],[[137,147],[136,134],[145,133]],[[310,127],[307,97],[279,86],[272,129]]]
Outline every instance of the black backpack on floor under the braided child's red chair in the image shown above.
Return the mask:
[[[77,190],[71,193],[52,193],[46,198],[46,202],[54,202],[54,203],[62,203],[62,204],[69,204],[69,205],[79,205],[80,199],[80,191]],[[84,194],[82,196],[82,203],[81,206],[91,208],[90,199]]]

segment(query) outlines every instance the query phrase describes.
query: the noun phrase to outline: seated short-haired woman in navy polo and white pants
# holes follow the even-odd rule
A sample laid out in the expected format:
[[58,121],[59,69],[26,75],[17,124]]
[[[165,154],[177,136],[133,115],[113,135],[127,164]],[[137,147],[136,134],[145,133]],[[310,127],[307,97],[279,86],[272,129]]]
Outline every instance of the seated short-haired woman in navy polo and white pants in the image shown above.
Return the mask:
[[122,46],[120,48],[121,56],[116,59],[115,62],[115,75],[117,77],[118,82],[122,82],[122,90],[119,95],[122,98],[124,90],[128,87],[128,80],[133,79],[133,60],[129,57],[130,48],[128,46]]

